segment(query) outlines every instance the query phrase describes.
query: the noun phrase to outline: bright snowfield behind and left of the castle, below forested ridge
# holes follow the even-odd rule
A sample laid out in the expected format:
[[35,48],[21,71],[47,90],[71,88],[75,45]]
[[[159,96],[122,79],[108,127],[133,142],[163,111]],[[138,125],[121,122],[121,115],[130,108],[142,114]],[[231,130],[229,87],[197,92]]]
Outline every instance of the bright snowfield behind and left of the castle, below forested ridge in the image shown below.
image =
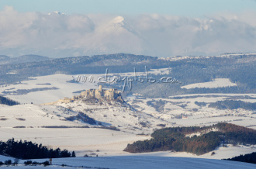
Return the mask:
[[[29,92],[26,95],[6,95],[20,103],[43,104],[46,102],[55,102],[64,97],[72,97],[74,91],[86,90],[89,88],[98,88],[95,83],[69,83],[67,81],[73,80],[71,75],[54,74],[49,76],[41,76],[31,78],[33,80],[22,81],[21,84],[2,86],[2,91],[16,91],[18,89],[33,89],[33,88],[59,88],[57,90],[35,91]],[[49,83],[50,85],[43,85]],[[37,85],[36,85],[37,84]],[[40,84],[40,85],[38,85]]]

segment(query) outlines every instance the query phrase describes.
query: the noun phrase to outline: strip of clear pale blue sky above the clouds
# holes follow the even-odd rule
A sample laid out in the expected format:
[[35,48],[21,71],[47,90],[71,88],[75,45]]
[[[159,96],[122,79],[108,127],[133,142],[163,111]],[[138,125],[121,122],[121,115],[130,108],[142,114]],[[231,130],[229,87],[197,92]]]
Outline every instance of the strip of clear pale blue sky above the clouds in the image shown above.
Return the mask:
[[67,14],[110,13],[137,15],[157,13],[175,16],[209,16],[218,12],[255,10],[254,0],[0,0],[0,9],[13,6],[18,12]]

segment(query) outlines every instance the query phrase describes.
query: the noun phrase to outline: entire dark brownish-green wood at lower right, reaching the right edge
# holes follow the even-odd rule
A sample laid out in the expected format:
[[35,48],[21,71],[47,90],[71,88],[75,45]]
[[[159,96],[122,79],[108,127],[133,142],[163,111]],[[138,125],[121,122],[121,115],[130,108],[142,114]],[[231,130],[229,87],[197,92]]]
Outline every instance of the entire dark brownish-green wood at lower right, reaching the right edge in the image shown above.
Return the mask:
[[[210,131],[202,136],[185,136],[217,128],[218,132]],[[206,127],[173,127],[157,129],[151,134],[152,139],[128,144],[125,151],[130,153],[152,152],[159,150],[175,150],[195,153],[208,153],[220,146],[220,143],[256,143],[256,131],[246,127],[225,122]]]

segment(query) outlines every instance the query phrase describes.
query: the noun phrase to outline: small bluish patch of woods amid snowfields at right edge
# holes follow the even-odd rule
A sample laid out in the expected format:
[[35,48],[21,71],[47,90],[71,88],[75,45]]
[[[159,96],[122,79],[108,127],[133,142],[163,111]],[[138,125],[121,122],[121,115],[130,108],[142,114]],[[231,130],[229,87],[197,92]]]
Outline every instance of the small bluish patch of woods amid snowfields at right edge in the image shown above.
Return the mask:
[[256,109],[256,103],[244,102],[244,101],[234,101],[234,100],[224,100],[218,102],[212,102],[209,104],[209,108],[216,109],[247,109],[254,110]]

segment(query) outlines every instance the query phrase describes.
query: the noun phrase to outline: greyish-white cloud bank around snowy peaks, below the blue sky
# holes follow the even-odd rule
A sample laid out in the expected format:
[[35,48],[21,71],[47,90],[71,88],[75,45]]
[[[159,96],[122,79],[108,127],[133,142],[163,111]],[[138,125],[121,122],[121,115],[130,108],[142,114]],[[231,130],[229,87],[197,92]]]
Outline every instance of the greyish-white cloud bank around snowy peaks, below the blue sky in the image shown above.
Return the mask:
[[203,18],[0,11],[0,55],[157,57],[256,52],[256,12]]

